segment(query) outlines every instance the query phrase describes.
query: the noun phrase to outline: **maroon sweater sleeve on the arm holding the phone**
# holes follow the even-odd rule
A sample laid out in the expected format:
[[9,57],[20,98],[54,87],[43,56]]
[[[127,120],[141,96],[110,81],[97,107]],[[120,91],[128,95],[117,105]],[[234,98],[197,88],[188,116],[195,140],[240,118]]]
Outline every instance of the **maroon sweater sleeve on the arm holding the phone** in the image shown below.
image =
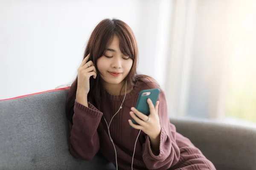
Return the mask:
[[158,106],[158,116],[160,119],[160,146],[159,155],[154,155],[150,139],[145,135],[145,143],[143,143],[143,161],[149,170],[167,170],[176,164],[180,159],[180,149],[176,143],[176,128],[169,121],[167,103],[165,94],[160,92]]

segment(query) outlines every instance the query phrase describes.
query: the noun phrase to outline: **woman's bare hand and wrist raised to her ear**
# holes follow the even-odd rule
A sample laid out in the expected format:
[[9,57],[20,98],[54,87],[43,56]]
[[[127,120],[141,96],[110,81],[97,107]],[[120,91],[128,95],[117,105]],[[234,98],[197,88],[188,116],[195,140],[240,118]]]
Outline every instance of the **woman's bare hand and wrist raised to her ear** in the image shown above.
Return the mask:
[[90,77],[96,79],[97,73],[93,61],[88,61],[90,54],[88,54],[82,61],[78,68],[77,91],[76,100],[87,106],[87,94],[90,91]]

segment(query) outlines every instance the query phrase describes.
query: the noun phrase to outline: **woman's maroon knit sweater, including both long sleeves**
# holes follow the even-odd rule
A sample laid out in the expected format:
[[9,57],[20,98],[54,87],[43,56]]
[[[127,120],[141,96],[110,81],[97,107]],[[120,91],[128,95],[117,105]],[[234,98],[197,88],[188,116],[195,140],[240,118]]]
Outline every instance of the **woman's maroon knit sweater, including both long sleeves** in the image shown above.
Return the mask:
[[[148,87],[149,86],[149,87]],[[126,94],[125,102],[110,125],[110,134],[116,147],[119,170],[131,170],[134,144],[139,130],[131,128],[129,112],[135,107],[140,91],[149,88],[160,88],[154,80],[138,81],[134,89]],[[124,95],[114,96],[106,92],[102,112],[88,102],[88,107],[75,101],[73,125],[70,125],[70,153],[78,159],[91,160],[100,151],[116,166],[113,144],[108,136],[108,128],[103,118],[110,122],[118,111]],[[154,155],[149,137],[140,132],[134,154],[134,170],[216,170],[201,151],[188,138],[176,132],[175,125],[170,123],[165,94],[160,88],[158,115],[160,118],[160,153]],[[89,100],[88,100],[89,101]]]

